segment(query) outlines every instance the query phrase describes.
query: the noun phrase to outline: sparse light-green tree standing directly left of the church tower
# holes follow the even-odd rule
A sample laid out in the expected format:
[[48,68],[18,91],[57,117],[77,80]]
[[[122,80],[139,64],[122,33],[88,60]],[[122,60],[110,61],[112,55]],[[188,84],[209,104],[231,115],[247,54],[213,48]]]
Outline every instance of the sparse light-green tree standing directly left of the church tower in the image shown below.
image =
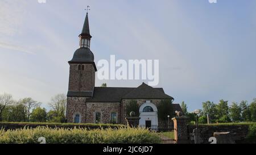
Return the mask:
[[49,106],[55,111],[56,116],[65,116],[67,97],[64,94],[57,94],[51,98]]

